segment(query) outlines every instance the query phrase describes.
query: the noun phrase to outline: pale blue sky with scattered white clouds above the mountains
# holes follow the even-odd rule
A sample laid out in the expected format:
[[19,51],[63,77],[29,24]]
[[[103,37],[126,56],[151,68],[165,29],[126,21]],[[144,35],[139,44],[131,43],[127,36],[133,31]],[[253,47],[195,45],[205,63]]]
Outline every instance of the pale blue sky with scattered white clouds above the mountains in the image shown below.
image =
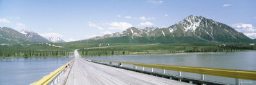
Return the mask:
[[256,39],[255,4],[255,0],[0,0],[0,26],[75,41],[130,27],[169,27],[200,15]]

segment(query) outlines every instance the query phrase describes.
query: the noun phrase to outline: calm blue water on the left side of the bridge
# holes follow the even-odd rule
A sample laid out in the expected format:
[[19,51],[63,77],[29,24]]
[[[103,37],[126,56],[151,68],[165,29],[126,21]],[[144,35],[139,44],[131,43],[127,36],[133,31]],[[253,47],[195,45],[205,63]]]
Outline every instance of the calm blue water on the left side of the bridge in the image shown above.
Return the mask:
[[27,85],[73,58],[0,59],[0,85]]

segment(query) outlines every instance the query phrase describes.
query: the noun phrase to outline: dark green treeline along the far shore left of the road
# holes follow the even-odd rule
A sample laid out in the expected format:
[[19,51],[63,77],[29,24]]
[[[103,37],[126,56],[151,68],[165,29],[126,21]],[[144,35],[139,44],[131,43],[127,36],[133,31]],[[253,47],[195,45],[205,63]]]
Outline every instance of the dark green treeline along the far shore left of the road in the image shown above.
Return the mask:
[[0,49],[0,57],[59,57],[68,56],[67,50],[11,50]]

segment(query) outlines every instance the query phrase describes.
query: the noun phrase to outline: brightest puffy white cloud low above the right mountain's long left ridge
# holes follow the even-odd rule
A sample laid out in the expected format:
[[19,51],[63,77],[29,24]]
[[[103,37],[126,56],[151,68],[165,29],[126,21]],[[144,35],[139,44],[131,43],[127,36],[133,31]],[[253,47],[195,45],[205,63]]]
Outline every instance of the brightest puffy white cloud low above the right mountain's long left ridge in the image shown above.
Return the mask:
[[111,22],[111,23],[108,23],[109,26],[109,29],[111,30],[125,30],[127,28],[131,28],[132,25],[131,23],[127,23],[127,22]]

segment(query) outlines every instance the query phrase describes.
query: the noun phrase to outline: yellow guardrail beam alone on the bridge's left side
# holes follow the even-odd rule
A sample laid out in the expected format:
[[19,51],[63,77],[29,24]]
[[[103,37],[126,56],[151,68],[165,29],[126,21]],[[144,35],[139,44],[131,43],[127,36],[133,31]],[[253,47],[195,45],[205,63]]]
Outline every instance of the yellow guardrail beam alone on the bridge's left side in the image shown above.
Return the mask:
[[74,59],[71,60],[70,62],[64,64],[60,68],[57,68],[55,71],[53,71],[49,75],[46,75],[42,79],[39,79],[37,82],[33,83],[32,85],[46,85],[46,84],[49,84],[57,75],[59,75],[62,72],[62,70],[64,70],[64,68],[66,66],[68,66],[68,64],[71,64],[71,62],[73,62],[73,61],[74,61]]

